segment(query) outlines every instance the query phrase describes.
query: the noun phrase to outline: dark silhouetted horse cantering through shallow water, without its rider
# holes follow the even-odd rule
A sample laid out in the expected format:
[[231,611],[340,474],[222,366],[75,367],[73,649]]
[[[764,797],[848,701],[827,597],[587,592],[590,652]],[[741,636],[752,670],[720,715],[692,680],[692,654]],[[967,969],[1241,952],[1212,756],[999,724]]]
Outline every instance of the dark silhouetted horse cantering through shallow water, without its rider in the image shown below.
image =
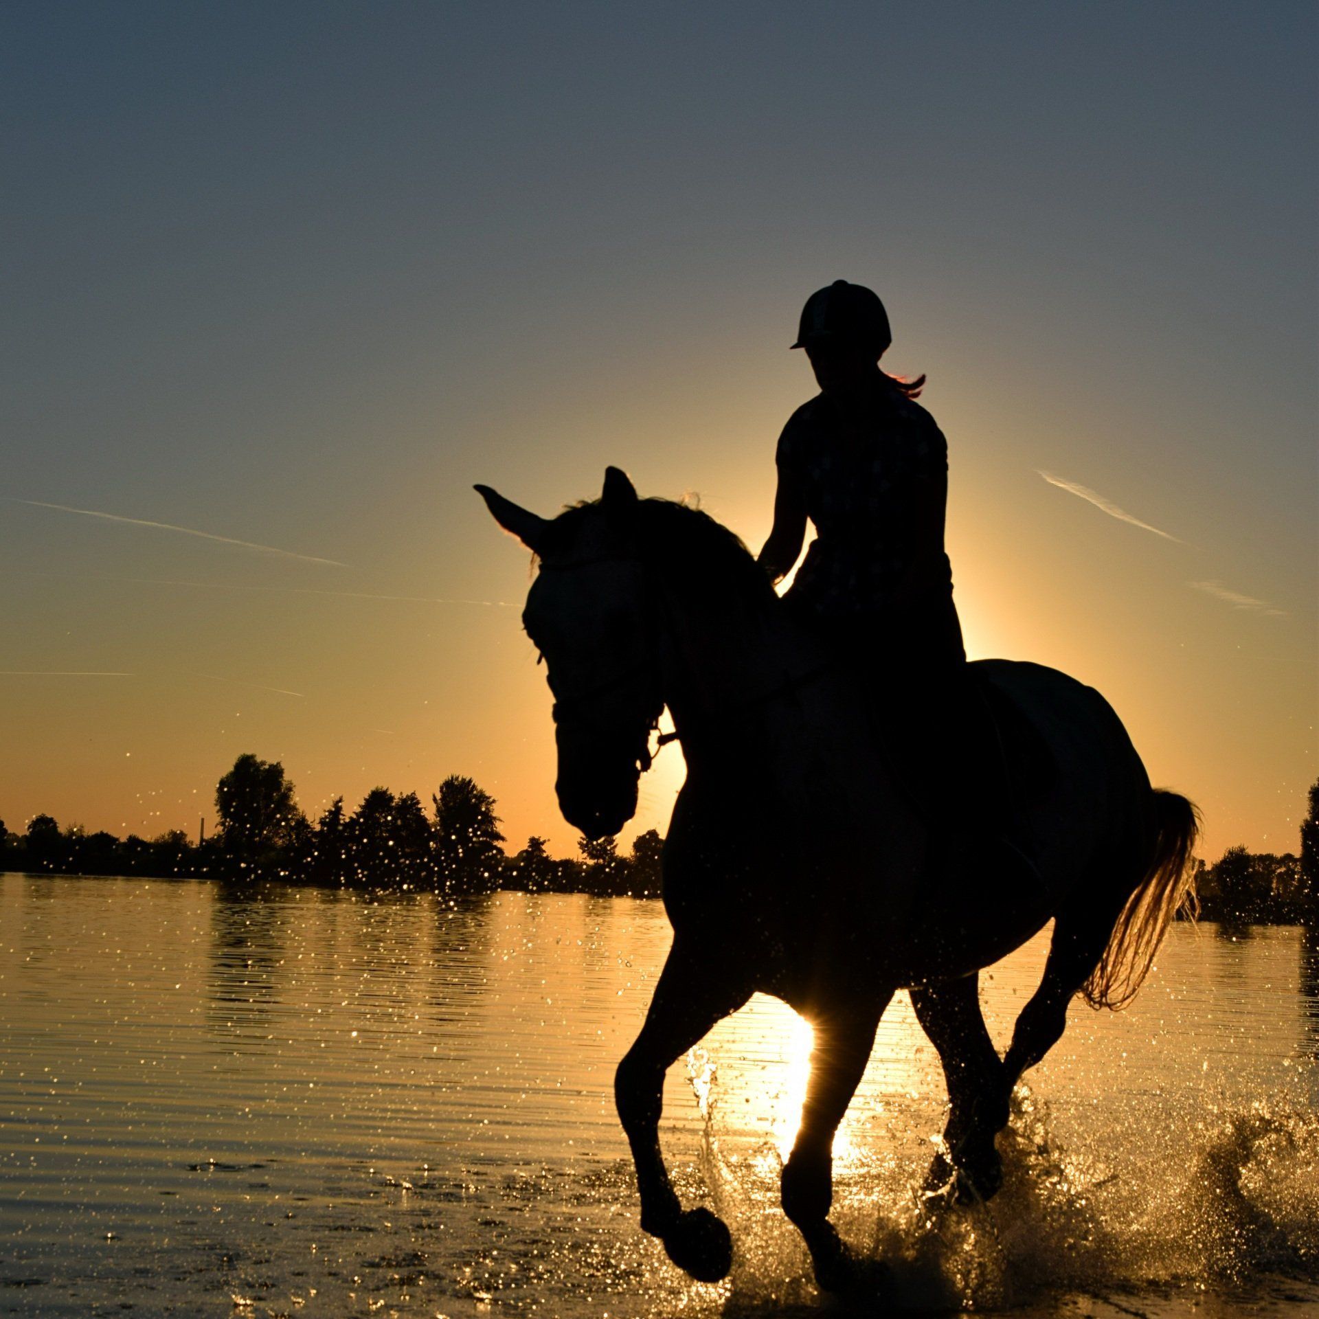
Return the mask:
[[[673,948],[616,1079],[641,1225],[692,1277],[727,1274],[728,1229],[708,1210],[682,1210],[661,1157],[663,1074],[753,993],[774,995],[815,1028],[782,1204],[816,1279],[843,1286],[853,1261],[828,1221],[831,1145],[894,991],[910,989],[948,1084],[952,1167],[940,1155],[931,1177],[955,1173],[991,1195],[1008,1096],[1058,1041],[1068,1000],[1080,991],[1116,1005],[1149,969],[1188,894],[1194,810],[1151,790],[1092,689],[984,661],[987,682],[1047,748],[1050,773],[1022,790],[1017,830],[1042,885],[1013,892],[1020,878],[940,865],[940,820],[913,805],[881,753],[869,695],[799,630],[732,533],[638,500],[616,468],[599,503],[553,520],[477,489],[539,555],[524,621],[549,663],[567,820],[598,838],[632,818],[665,706],[687,761],[663,853]],[[1050,918],[1043,980],[1000,1059],[976,973]]]

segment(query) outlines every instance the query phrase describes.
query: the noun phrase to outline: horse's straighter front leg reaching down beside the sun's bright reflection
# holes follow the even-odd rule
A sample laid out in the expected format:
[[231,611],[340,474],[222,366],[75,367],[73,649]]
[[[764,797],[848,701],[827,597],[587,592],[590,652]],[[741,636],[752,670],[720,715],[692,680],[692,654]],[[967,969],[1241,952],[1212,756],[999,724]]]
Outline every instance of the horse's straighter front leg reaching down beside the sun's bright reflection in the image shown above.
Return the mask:
[[856,1261],[828,1220],[834,1203],[834,1133],[856,1093],[889,996],[849,1002],[814,1018],[815,1049],[802,1125],[783,1166],[783,1212],[811,1252],[815,1281],[840,1291],[855,1281]]

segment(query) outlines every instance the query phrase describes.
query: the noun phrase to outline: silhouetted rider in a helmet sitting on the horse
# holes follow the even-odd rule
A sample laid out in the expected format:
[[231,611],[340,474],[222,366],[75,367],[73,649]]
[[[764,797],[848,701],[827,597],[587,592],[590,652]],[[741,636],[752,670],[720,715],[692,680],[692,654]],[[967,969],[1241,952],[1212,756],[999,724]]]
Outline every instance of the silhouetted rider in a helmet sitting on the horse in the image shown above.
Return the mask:
[[815,525],[785,604],[877,691],[886,751],[922,807],[963,807],[946,847],[988,845],[1034,880],[1000,836],[1005,803],[975,782],[996,777],[984,765],[995,733],[967,669],[943,545],[948,445],[915,401],[926,377],[880,367],[890,343],[871,289],[835,280],[806,301],[793,348],[806,351],[820,392],[778,439],[774,525],[758,562],[777,584],[801,555],[807,520]]

